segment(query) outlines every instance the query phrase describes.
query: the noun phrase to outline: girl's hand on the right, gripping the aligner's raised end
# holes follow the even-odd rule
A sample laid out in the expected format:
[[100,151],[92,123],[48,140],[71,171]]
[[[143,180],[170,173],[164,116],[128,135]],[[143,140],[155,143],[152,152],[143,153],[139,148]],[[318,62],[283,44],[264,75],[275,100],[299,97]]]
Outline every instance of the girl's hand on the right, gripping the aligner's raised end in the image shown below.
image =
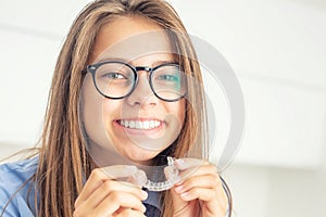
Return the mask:
[[176,161],[181,180],[171,189],[174,217],[225,217],[227,196],[215,165],[200,159]]

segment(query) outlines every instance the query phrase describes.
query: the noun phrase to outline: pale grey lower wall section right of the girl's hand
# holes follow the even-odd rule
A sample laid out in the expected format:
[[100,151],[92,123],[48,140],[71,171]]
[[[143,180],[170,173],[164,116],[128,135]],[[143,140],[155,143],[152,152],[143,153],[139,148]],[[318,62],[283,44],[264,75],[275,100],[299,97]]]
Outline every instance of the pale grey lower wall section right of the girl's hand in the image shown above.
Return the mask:
[[234,164],[225,175],[235,216],[325,216],[326,171]]

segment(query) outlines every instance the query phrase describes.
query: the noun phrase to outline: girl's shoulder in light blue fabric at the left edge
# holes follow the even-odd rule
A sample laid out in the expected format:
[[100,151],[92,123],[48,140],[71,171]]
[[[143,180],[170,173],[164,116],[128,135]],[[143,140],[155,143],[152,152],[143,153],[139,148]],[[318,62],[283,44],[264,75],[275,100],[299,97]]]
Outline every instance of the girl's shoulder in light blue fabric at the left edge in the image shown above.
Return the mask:
[[37,166],[38,157],[0,165],[0,210],[5,207],[4,216],[33,216],[27,197]]

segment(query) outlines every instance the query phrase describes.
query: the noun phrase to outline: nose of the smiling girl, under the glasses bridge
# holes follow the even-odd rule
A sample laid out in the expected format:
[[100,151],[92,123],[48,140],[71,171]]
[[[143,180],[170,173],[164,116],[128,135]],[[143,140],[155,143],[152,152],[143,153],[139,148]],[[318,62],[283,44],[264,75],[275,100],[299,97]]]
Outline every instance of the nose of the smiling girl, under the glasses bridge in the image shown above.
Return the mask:
[[142,108],[155,106],[159,103],[159,99],[150,87],[147,72],[138,72],[138,82],[126,100],[129,105],[140,105]]

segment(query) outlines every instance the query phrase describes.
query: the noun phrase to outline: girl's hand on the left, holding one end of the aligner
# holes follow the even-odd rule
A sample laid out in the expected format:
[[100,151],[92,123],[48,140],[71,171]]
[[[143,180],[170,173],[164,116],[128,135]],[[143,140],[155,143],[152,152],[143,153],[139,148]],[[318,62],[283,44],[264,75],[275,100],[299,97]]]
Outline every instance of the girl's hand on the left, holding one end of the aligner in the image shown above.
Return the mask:
[[137,173],[135,166],[110,166],[93,169],[75,202],[74,217],[135,216],[145,217],[141,201],[147,192],[131,183],[117,181]]

